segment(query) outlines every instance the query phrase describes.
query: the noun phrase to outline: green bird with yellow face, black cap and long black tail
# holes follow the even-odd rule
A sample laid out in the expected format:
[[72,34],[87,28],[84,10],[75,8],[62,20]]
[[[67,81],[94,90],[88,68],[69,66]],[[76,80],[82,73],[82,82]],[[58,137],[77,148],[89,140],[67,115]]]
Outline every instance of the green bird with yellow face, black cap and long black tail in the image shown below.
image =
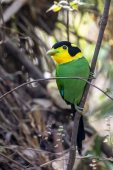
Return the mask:
[[[56,77],[82,77],[87,78],[90,75],[90,66],[81,50],[69,41],[60,41],[47,51],[57,63]],[[85,130],[83,124],[83,108],[79,107],[80,100],[86,85],[86,82],[80,79],[56,79],[57,87],[61,97],[67,104],[71,105],[73,115],[76,111],[81,114],[78,134],[77,148],[81,155],[82,141],[85,139]]]

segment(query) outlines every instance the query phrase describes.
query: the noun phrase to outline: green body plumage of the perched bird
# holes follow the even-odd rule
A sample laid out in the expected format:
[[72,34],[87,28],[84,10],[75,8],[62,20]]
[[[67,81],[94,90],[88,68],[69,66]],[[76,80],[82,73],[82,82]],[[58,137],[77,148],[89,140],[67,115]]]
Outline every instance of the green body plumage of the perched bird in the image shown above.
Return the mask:
[[[89,74],[89,64],[84,57],[58,65],[56,69],[56,77],[88,78]],[[63,90],[63,99],[74,105],[78,105],[86,82],[79,79],[57,79],[56,82],[61,96],[61,90]]]

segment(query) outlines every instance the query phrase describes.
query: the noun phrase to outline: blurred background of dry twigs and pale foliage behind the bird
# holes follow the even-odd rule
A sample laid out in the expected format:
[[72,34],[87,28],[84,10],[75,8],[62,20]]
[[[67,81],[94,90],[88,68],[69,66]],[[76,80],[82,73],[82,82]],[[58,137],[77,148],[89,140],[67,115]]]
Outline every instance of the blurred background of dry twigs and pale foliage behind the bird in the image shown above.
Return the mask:
[[[57,1],[58,2],[58,1]],[[70,2],[72,2],[70,0]],[[70,42],[91,64],[104,0],[82,0],[69,11]],[[67,40],[67,10],[46,11],[53,0],[2,0],[0,4],[0,96],[22,83],[55,77],[56,63],[46,51]],[[92,5],[93,4],[93,5]],[[93,84],[113,97],[113,2]],[[113,102],[94,87],[85,104],[86,140],[74,170],[113,169]],[[24,86],[0,100],[0,170],[65,170],[73,114],[56,83]],[[47,163],[48,162],[48,163]]]

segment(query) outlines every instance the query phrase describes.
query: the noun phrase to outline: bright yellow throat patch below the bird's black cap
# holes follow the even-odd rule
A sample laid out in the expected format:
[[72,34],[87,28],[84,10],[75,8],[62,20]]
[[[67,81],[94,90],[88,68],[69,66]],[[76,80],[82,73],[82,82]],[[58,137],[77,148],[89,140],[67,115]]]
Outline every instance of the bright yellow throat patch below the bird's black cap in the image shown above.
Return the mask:
[[52,58],[58,63],[58,65],[70,62],[72,60],[77,60],[83,55],[81,52],[77,53],[75,56],[70,56],[69,53],[58,53],[57,55],[52,56]]

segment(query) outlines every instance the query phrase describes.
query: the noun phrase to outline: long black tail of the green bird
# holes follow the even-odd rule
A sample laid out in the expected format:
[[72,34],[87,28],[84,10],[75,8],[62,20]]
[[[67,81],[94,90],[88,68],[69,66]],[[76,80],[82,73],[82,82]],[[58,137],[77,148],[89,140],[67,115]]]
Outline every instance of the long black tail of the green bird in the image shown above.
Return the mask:
[[[75,106],[74,104],[71,104],[71,108],[73,111],[73,114],[75,115]],[[85,139],[85,131],[84,131],[84,124],[83,124],[83,116],[80,117],[79,121],[79,127],[78,127],[78,134],[77,134],[77,147],[78,147],[78,153],[81,155],[82,150],[82,140]]]

